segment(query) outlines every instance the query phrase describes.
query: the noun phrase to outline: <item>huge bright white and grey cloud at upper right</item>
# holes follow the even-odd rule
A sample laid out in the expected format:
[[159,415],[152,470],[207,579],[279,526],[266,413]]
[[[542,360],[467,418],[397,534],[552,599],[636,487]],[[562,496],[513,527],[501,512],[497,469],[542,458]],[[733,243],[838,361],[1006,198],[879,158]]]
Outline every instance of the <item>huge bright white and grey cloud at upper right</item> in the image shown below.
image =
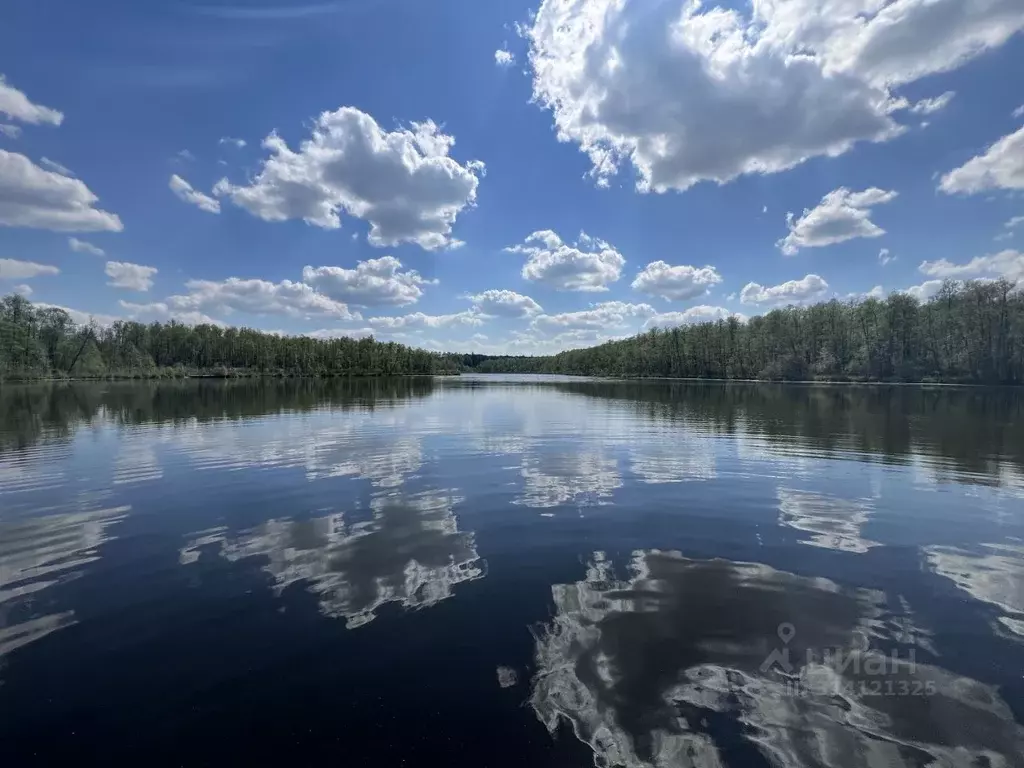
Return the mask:
[[774,173],[903,127],[890,89],[1024,27],[1020,0],[544,0],[534,95],[600,181],[640,190]]

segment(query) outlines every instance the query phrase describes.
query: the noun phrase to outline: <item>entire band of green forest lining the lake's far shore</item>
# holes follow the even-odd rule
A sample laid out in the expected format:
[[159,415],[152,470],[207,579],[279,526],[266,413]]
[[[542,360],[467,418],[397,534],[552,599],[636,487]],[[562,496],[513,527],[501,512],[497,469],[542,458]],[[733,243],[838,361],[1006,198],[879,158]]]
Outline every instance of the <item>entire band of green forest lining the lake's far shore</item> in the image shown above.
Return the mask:
[[590,376],[1024,383],[1024,293],[1007,281],[947,281],[927,302],[790,306],[546,357],[439,354],[366,339],[118,321],[76,326],[62,309],[0,299],[0,379],[156,376]]

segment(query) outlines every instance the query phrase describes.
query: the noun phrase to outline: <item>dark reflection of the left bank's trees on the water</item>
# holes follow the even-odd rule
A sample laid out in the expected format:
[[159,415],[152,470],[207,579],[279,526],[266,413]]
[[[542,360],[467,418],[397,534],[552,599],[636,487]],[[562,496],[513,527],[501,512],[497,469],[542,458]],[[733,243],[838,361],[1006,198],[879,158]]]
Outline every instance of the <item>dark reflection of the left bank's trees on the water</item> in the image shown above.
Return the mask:
[[434,391],[429,377],[373,379],[191,379],[0,387],[0,451],[65,437],[81,424],[245,419],[315,409],[388,408]]

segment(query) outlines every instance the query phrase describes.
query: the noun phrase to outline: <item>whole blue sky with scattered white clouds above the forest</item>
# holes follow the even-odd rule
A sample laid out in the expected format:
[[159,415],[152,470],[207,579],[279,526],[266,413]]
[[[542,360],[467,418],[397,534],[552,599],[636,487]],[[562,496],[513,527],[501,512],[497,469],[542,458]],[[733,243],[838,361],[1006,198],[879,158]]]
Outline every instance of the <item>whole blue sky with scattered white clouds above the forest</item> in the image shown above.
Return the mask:
[[1024,279],[1024,0],[0,19],[0,292],[76,317],[520,353]]

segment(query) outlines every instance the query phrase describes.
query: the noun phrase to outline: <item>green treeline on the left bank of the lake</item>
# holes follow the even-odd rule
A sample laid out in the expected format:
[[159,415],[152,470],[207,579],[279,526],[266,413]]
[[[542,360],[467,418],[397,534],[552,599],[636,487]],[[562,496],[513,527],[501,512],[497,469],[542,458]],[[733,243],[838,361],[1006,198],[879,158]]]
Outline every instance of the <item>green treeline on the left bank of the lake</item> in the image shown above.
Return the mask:
[[284,337],[247,328],[118,321],[77,326],[62,309],[0,299],[0,380],[50,377],[396,376],[458,373],[461,355],[394,342]]

